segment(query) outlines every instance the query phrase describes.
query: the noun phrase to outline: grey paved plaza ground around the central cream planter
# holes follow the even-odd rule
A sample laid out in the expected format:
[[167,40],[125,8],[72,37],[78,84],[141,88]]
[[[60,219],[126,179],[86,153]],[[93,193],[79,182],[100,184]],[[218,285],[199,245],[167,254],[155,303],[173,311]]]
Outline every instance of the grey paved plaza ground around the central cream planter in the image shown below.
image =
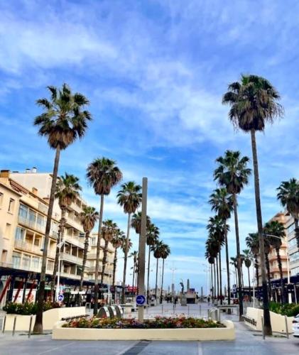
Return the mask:
[[[176,307],[164,303],[151,307],[148,316],[182,314],[207,316],[207,304],[190,305],[190,307]],[[146,312],[147,313],[147,312]],[[145,314],[146,314],[145,313]],[[224,317],[224,315],[222,315]],[[251,354],[251,355],[298,355],[299,339],[290,336],[276,336],[263,340],[259,332],[249,330],[243,323],[237,321],[237,315],[227,315],[227,319],[234,321],[236,327],[236,340],[227,342],[95,342],[95,341],[63,341],[52,340],[51,334],[33,335],[28,339],[25,332],[16,332],[12,337],[11,332],[0,335],[1,355],[41,355],[41,354],[98,354],[98,355],[214,355],[214,354]]]

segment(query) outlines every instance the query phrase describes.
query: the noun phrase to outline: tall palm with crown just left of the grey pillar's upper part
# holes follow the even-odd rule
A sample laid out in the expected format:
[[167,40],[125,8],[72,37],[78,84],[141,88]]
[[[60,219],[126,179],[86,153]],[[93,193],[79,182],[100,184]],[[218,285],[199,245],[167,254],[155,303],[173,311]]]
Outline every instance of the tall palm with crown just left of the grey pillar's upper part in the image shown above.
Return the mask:
[[121,190],[117,194],[117,203],[124,207],[124,213],[128,214],[128,228],[126,231],[126,246],[124,251],[124,275],[122,282],[121,302],[124,303],[125,287],[126,287],[126,261],[128,258],[128,241],[131,227],[131,214],[136,212],[136,209],[141,204],[142,193],[141,186],[136,185],[134,181],[129,181],[121,185]]

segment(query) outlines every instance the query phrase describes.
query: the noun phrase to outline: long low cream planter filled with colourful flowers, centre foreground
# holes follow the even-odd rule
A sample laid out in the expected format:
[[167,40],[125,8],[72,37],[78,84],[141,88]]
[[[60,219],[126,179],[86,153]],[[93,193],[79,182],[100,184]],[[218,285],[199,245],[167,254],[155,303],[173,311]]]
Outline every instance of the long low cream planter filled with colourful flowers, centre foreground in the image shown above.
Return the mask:
[[52,339],[65,340],[175,340],[207,341],[235,339],[234,324],[185,317],[158,317],[145,320],[107,320],[81,318],[72,322],[57,322]]

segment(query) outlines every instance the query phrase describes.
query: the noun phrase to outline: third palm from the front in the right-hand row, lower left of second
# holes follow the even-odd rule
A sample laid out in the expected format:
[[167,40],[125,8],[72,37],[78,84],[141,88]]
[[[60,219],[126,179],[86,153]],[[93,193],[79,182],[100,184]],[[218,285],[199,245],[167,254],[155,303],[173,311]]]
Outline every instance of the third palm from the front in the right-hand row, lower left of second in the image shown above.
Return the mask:
[[227,189],[222,187],[215,189],[212,195],[210,195],[210,201],[212,211],[217,212],[219,218],[224,221],[224,242],[225,242],[225,254],[227,260],[227,295],[228,304],[231,304],[231,287],[229,277],[229,244],[227,241],[227,220],[231,217],[231,213],[234,209],[234,201],[232,195],[227,193]]

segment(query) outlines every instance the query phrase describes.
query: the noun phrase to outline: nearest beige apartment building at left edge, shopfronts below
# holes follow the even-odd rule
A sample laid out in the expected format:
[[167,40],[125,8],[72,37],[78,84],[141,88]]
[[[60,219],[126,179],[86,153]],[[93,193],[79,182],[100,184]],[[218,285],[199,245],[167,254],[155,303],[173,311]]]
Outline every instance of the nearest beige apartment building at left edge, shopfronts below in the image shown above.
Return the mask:
[[[9,299],[27,295],[31,288],[35,294],[37,273],[40,273],[45,236],[48,202],[38,195],[38,190],[27,189],[11,178],[9,170],[0,173],[0,294],[2,303],[7,288]],[[53,272],[55,247],[58,237],[58,219],[53,218],[48,245],[46,272]],[[22,288],[22,290],[19,290]]]

